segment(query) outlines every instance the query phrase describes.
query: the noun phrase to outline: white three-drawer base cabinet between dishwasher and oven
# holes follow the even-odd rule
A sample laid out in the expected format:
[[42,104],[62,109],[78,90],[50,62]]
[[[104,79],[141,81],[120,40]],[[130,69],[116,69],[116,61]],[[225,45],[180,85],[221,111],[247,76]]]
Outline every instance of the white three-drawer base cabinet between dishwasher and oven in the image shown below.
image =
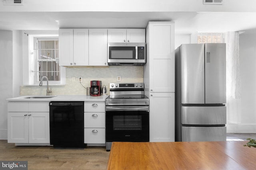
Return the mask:
[[105,146],[105,102],[85,102],[84,143]]

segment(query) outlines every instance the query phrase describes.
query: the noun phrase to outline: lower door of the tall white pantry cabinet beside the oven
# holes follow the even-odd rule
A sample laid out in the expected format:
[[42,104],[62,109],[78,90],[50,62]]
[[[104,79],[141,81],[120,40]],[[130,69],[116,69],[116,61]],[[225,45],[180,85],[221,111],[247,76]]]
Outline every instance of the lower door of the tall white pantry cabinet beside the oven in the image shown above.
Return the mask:
[[174,93],[150,94],[150,142],[174,142]]

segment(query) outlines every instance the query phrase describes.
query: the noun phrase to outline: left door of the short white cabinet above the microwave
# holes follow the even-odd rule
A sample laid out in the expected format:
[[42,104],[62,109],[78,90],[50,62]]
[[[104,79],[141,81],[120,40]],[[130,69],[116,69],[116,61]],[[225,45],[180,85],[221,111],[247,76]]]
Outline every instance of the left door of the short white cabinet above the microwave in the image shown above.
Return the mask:
[[125,43],[126,29],[108,29],[108,43]]

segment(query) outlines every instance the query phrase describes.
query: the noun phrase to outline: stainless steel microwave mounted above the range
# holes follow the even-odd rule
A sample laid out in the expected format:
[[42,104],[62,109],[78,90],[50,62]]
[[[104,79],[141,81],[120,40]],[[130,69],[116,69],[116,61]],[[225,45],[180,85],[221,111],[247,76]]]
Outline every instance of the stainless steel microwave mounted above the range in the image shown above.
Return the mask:
[[108,65],[143,66],[146,63],[146,43],[108,43]]

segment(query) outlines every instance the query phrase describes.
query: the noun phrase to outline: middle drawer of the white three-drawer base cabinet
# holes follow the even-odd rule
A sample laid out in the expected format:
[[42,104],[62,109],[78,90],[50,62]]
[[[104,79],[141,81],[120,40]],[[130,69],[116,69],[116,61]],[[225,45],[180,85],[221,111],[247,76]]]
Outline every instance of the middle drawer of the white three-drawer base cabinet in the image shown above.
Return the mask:
[[105,128],[105,113],[84,113],[84,127]]

